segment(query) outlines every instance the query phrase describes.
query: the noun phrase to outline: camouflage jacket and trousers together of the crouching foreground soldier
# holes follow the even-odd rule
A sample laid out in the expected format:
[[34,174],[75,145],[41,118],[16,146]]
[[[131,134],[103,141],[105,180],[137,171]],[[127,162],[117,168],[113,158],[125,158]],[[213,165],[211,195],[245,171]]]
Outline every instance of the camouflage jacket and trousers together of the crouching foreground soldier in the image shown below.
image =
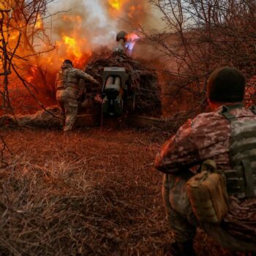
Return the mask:
[[[187,121],[157,155],[156,167],[166,173],[162,195],[176,241],[191,239],[198,225],[189,206],[184,185],[189,179],[189,170],[195,170],[206,159],[214,159],[218,170],[231,168],[230,122],[219,114],[221,109],[200,114]],[[256,121],[256,116],[246,108],[235,109],[231,113],[241,121]],[[230,197],[229,200],[229,212],[223,223],[203,225],[204,230],[229,249],[256,252],[256,198],[238,200]]]

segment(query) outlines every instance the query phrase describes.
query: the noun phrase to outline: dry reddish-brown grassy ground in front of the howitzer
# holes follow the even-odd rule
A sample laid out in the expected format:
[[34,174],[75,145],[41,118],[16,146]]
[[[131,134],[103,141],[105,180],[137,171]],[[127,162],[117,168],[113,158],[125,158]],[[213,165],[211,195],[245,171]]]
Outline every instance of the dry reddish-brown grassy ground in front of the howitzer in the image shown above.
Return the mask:
[[[164,255],[163,132],[5,129],[0,255]],[[197,255],[230,255],[199,231]]]

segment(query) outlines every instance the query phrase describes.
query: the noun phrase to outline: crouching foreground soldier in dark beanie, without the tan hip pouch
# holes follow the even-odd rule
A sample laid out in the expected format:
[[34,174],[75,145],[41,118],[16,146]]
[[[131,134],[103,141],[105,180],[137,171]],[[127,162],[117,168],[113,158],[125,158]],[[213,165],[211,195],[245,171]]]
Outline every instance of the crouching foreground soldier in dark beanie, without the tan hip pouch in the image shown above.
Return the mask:
[[[165,173],[162,197],[176,240],[168,248],[171,255],[195,255],[193,238],[198,226],[233,252],[256,252],[256,111],[241,104],[244,90],[245,79],[237,69],[225,67],[213,72],[208,80],[212,112],[187,121],[157,155],[156,167]],[[250,127],[245,126],[249,131],[238,131],[239,136],[234,138],[234,120],[241,127],[249,124]],[[236,141],[236,152],[231,152],[230,146]],[[189,170],[197,170],[207,159],[214,160],[217,169],[224,173],[239,170],[236,176],[232,172],[230,177],[226,175],[228,212],[215,225],[198,222],[186,187],[189,178],[195,175]],[[234,185],[233,181],[237,183]]]

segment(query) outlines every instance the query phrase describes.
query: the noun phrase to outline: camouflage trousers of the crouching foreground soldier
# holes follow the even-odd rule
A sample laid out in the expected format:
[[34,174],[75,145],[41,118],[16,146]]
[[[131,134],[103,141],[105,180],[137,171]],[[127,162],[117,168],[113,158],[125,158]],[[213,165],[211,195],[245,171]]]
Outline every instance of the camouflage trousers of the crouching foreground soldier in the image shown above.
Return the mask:
[[197,222],[187,197],[186,183],[191,177],[192,174],[189,172],[181,176],[164,176],[162,198],[167,221],[175,240],[178,242],[191,240],[195,237],[196,228],[201,227],[221,246],[233,252],[256,252],[255,244],[231,236],[221,225]]

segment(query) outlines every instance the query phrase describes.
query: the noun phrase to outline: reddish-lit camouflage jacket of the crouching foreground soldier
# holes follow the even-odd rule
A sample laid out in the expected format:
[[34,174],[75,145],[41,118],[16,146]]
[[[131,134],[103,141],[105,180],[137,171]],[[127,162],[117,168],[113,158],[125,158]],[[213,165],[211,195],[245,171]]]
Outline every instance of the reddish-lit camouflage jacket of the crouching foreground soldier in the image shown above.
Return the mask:
[[[206,159],[214,159],[219,170],[229,170],[230,121],[219,114],[221,110],[202,113],[178,129],[157,155],[157,169],[178,174],[199,166]],[[230,113],[241,120],[256,121],[255,114],[246,108]],[[230,196],[229,211],[222,225],[233,236],[256,242],[256,198],[239,200]]]

